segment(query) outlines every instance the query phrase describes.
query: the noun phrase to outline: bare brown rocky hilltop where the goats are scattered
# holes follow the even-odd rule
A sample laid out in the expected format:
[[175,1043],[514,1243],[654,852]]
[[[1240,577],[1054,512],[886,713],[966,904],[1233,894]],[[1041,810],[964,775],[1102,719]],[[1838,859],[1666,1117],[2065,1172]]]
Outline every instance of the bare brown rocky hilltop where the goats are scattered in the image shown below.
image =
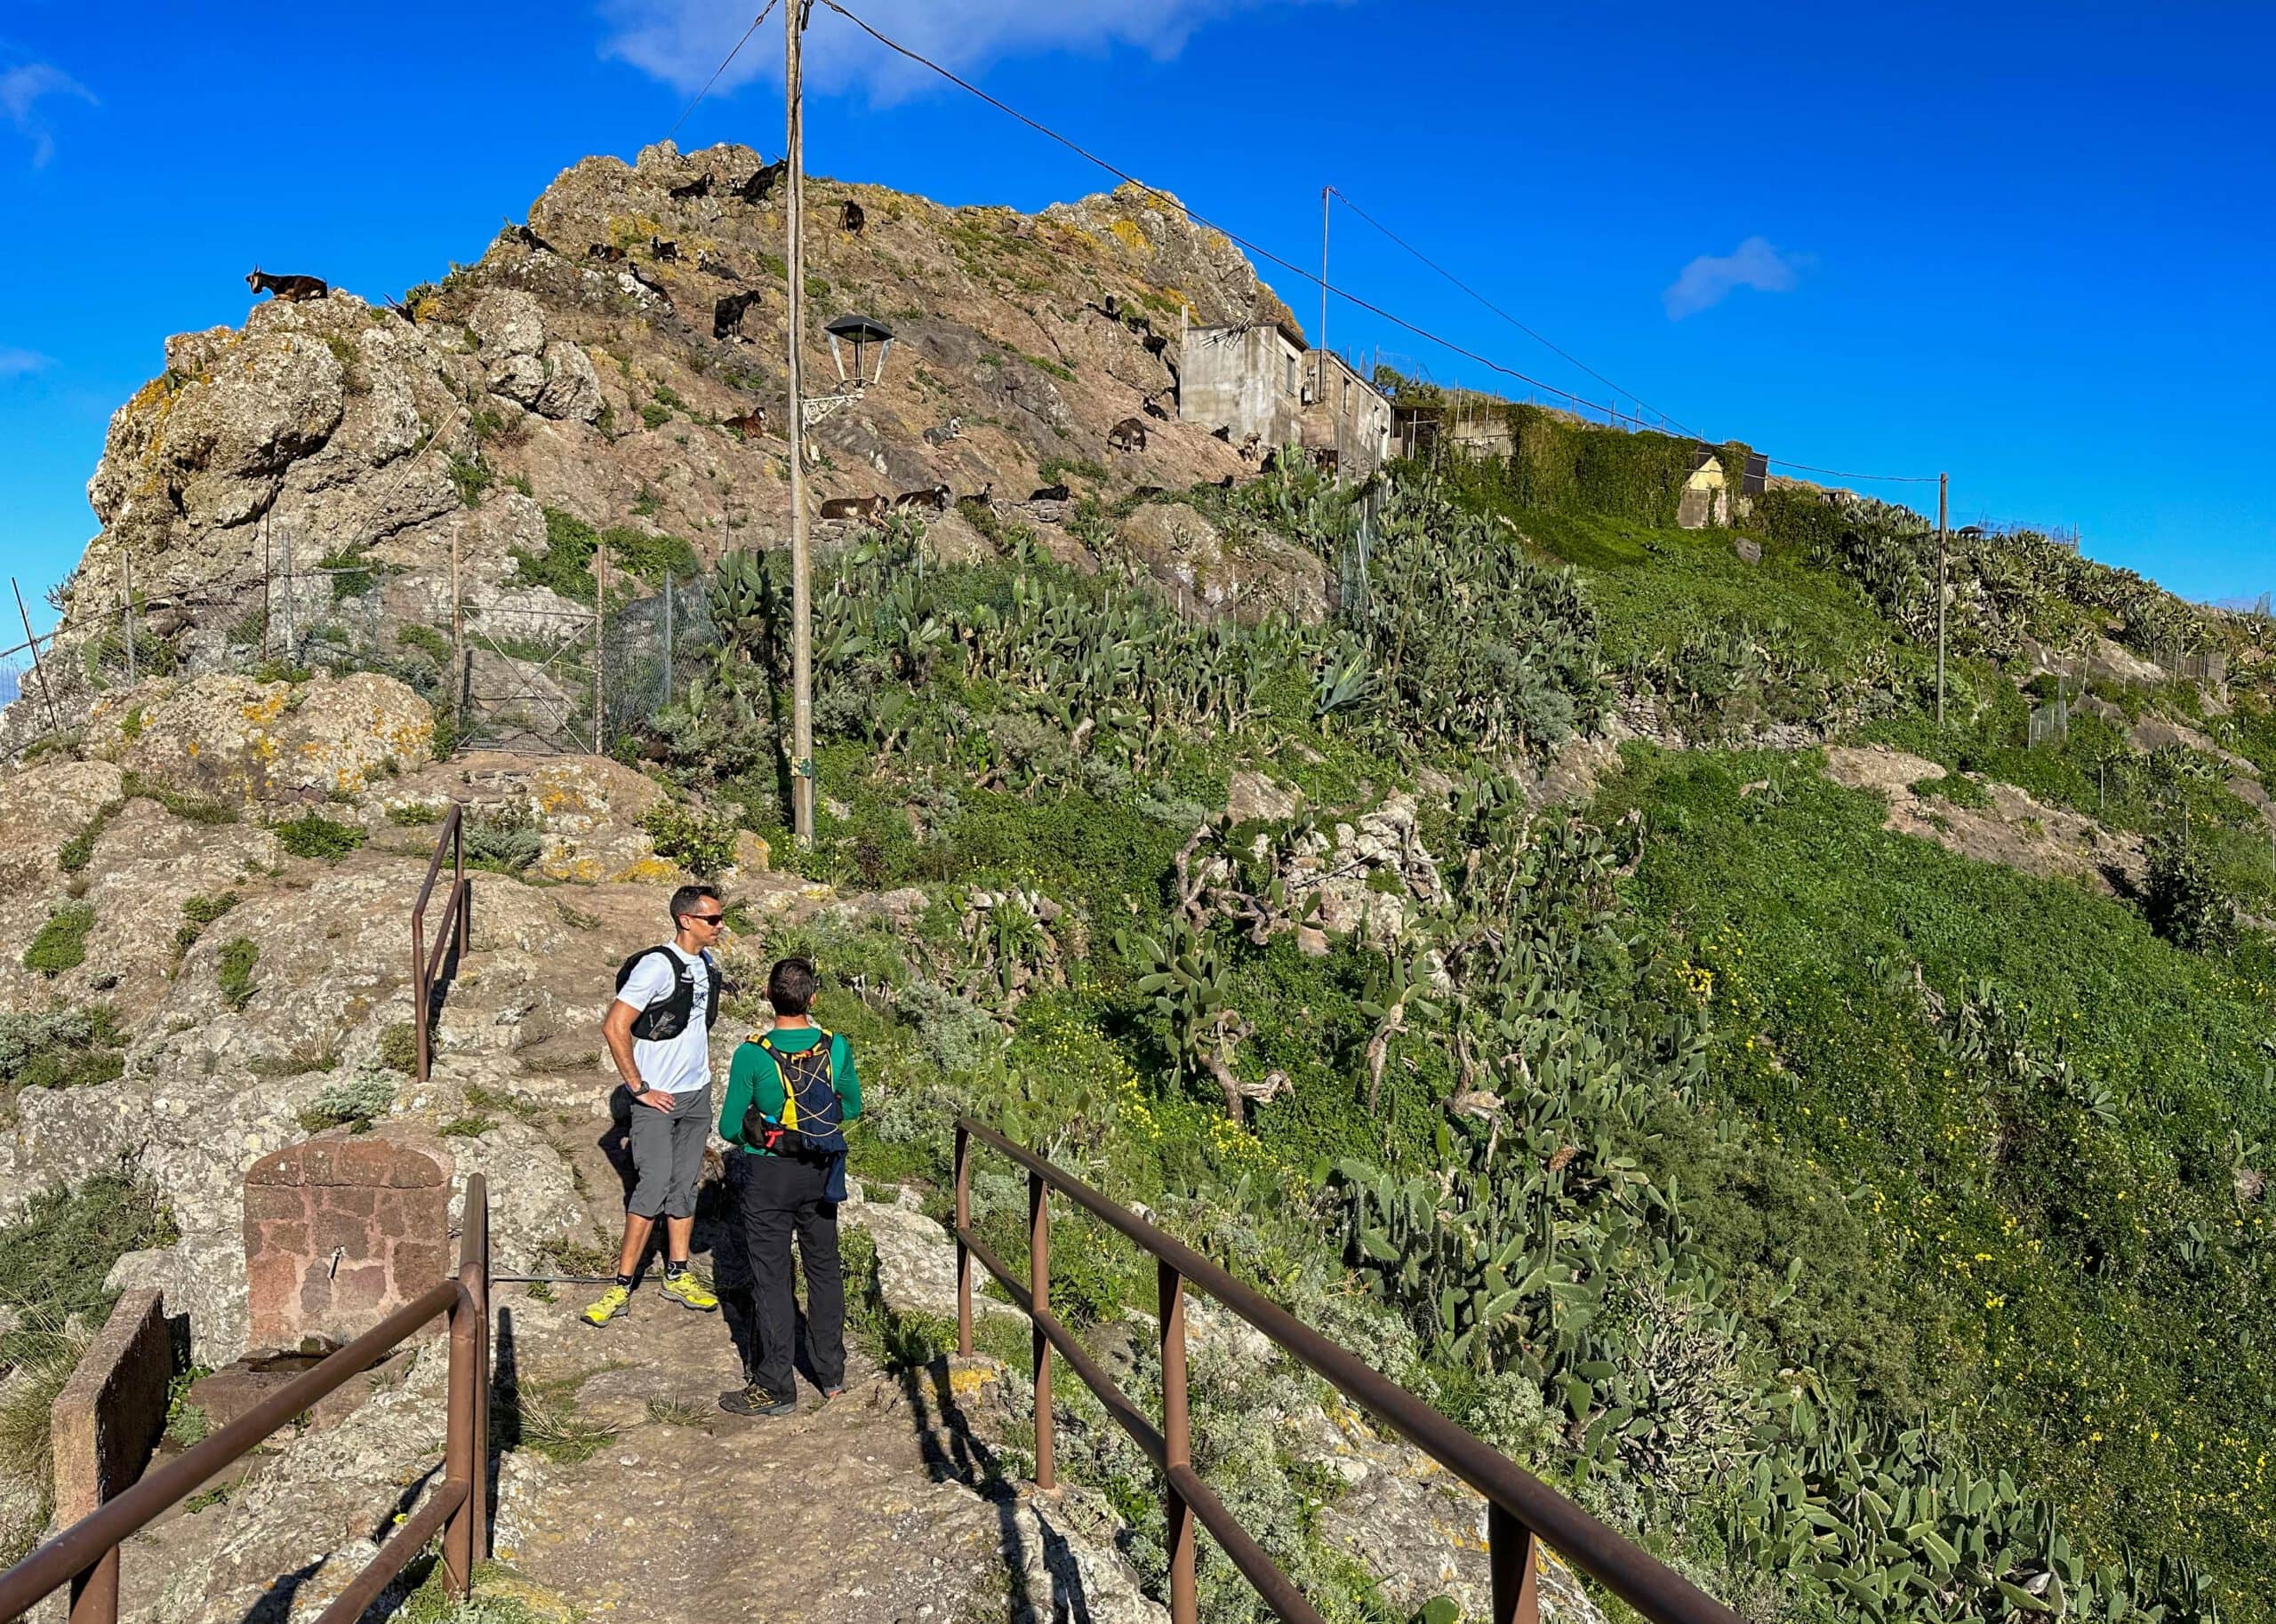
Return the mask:
[[[1174,421],[1181,312],[1293,318],[1158,196],[1024,216],[810,180],[808,221],[808,391],[844,391],[828,321],[894,334],[881,373],[865,353],[874,387],[810,428],[817,509],[945,494],[988,512],[1077,464],[1108,498],[1247,466]],[[273,300],[168,339],[89,482],[102,532],[68,587],[66,644],[118,625],[132,571],[162,644],[146,666],[214,666],[284,621],[387,646],[387,628],[448,625],[453,564],[485,630],[544,635],[589,607],[517,566],[544,555],[549,509],[681,537],[703,562],[781,544],[781,250],[783,182],[758,152],[662,143],[564,171],[528,225],[403,300]],[[1108,448],[1129,416],[1154,430],[1143,453]],[[956,512],[933,525],[949,553],[976,544]]]

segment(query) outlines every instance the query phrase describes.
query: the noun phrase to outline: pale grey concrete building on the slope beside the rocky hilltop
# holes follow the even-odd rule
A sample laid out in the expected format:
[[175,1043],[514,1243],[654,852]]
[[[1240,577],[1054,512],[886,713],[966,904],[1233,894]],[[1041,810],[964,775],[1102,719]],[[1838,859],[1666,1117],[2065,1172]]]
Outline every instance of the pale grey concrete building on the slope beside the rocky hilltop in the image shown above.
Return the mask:
[[1297,444],[1366,475],[1391,450],[1391,403],[1331,350],[1306,350],[1293,321],[1186,328],[1177,416],[1270,450]]

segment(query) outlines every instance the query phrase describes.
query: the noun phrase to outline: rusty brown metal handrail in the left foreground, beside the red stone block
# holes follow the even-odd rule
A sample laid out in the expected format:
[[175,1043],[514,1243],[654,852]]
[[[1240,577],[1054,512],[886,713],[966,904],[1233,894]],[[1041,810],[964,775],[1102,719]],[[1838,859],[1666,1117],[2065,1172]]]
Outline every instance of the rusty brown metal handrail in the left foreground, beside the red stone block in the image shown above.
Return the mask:
[[271,1433],[394,1353],[435,1315],[451,1321],[451,1374],[444,1422],[444,1481],[398,1526],[316,1624],[353,1624],[442,1531],[451,1592],[473,1592],[473,1565],[489,1547],[489,1185],[467,1180],[457,1278],[437,1281],[348,1347],[296,1376],[116,1499],[41,1544],[0,1574],[0,1619],[27,1615],[71,1585],[71,1624],[116,1624],[118,1544],[148,1528],[175,1501],[223,1467],[253,1453]]

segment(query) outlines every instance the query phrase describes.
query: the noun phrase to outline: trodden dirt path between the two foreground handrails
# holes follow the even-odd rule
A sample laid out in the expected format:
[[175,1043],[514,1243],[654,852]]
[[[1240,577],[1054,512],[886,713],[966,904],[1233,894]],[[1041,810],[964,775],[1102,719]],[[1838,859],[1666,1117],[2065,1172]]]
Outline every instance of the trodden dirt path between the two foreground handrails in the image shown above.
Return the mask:
[[992,1399],[995,1367],[885,1376],[856,1353],[838,1399],[801,1381],[799,1415],[744,1419],[717,1406],[742,1381],[724,1315],[649,1285],[596,1331],[576,1317],[587,1296],[501,1292],[496,1337],[496,1556],[587,1615],[1158,1617],[1120,1560],[1067,1538],[1079,1506],[999,1481],[958,1410]]

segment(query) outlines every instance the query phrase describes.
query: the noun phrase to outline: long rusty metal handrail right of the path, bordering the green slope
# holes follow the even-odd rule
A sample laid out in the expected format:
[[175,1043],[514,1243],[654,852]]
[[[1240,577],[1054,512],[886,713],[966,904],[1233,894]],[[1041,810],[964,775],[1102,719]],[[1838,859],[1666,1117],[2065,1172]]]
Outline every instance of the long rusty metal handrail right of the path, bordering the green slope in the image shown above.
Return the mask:
[[[1026,1169],[1029,1190],[1029,1278],[1017,1281],[1001,1258],[972,1228],[972,1140],[995,1146]],[[1052,1315],[1052,1215],[1047,1192],[1056,1190],[1083,1212],[1099,1219],[1140,1251],[1149,1253],[1161,1285],[1161,1392],[1163,1424],[1156,1428],[1131,1403],[1083,1344]],[[1199,1522],[1231,1558],[1234,1567],[1256,1588],[1286,1624],[1320,1624],[1320,1615],[1302,1592],[1265,1556],[1222,1501],[1193,1472],[1193,1440],[1186,1422],[1186,1283],[1202,1287],[1224,1308],[1261,1331],[1297,1362],[1311,1367],[1345,1399],[1404,1435],[1441,1467],[1459,1476],[1486,1499],[1489,1576],[1493,1585],[1493,1624],[1534,1624],[1539,1597],[1534,1581],[1534,1540],[1543,1540],[1573,1567],[1600,1581],[1652,1624],[1739,1624],[1739,1615],[1702,1592],[1666,1563],[1632,1540],[1607,1528],[1541,1478],[1520,1469],[1484,1440],[1466,1433],[1418,1397],[1388,1381],[1347,1349],[1329,1342],[1286,1308],[1243,1285],[1193,1246],[1154,1228],[1136,1212],[1099,1194],[1081,1178],[1054,1167],[1022,1144],[1006,1140],[983,1121],[963,1117],[956,1124],[956,1351],[972,1353],[972,1260],[1011,1294],[1033,1321],[1036,1358],[1036,1485],[1052,1488],[1052,1358],[1067,1360],[1106,1412],[1154,1460],[1165,1481],[1170,1547],[1170,1619],[1193,1624],[1197,1615],[1193,1585],[1193,1524]]]

